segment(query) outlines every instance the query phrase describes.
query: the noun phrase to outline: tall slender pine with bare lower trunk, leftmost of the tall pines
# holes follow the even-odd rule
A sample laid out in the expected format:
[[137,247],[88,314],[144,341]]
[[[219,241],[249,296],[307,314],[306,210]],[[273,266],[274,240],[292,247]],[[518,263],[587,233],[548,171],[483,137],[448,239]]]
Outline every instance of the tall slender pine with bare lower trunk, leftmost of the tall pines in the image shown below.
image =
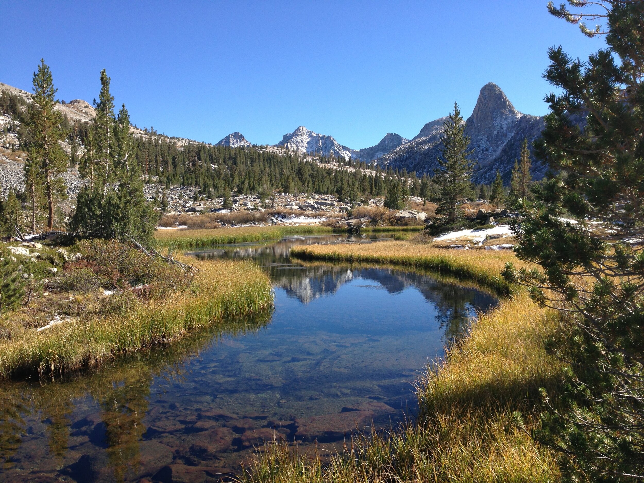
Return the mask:
[[[38,70],[33,73],[33,95],[30,106],[28,132],[31,138],[29,146],[30,162],[25,166],[27,180],[30,183],[29,194],[32,198],[32,229],[35,229],[35,206],[37,205],[37,187],[41,180],[47,198],[47,229],[53,228],[53,212],[56,200],[64,196],[65,185],[61,174],[67,168],[68,156],[62,150],[60,142],[67,137],[63,128],[63,117],[54,107],[57,89],[53,87],[52,72],[41,59]],[[34,230],[35,231],[35,230]]]

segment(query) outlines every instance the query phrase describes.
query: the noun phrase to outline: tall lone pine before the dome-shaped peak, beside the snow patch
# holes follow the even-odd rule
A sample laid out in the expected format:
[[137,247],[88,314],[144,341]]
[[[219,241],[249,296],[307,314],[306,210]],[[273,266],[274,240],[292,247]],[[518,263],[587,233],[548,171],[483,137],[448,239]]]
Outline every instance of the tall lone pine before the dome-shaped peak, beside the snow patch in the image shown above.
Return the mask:
[[471,174],[477,164],[468,158],[473,150],[468,150],[469,138],[465,135],[465,123],[456,103],[453,113],[444,122],[441,140],[443,149],[438,158],[438,172],[433,178],[440,190],[436,213],[444,216],[442,224],[450,226],[462,217],[459,202],[471,194]]

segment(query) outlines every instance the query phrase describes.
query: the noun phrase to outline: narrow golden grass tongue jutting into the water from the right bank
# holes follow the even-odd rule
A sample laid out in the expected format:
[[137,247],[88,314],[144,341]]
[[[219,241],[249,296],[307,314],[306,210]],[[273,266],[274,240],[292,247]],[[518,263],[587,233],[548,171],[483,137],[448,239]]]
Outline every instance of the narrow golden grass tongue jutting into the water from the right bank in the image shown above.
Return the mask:
[[413,242],[310,245],[294,247],[290,254],[303,260],[388,263],[430,269],[458,278],[471,279],[498,293],[508,293],[510,290],[509,285],[500,276],[500,270],[507,261],[517,263],[511,251],[445,250]]

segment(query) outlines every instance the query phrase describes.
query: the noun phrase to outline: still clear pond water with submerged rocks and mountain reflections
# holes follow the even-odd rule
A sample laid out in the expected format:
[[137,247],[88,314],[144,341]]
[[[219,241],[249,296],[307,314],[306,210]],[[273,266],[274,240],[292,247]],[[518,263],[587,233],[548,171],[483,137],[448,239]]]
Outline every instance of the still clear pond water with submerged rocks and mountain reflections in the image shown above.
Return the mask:
[[218,481],[270,440],[340,451],[415,410],[413,381],[495,298],[429,274],[303,266],[283,240],[218,247],[274,281],[275,309],[62,381],[0,386],[0,480]]

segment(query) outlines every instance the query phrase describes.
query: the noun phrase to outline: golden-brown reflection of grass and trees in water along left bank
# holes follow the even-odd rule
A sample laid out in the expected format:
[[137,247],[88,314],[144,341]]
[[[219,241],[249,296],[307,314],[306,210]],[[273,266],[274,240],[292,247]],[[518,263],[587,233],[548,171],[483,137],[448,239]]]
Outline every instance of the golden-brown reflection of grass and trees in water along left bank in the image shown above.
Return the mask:
[[62,459],[68,448],[70,417],[76,404],[88,395],[100,408],[105,427],[104,444],[115,480],[122,481],[128,468],[137,468],[138,442],[146,432],[143,419],[155,377],[182,379],[184,366],[193,354],[202,352],[223,336],[257,332],[270,321],[270,312],[231,321],[204,330],[162,349],[120,357],[99,370],[73,374],[62,381],[3,383],[0,385],[0,461],[3,469],[22,444],[28,417],[39,416],[46,424],[50,452]]

